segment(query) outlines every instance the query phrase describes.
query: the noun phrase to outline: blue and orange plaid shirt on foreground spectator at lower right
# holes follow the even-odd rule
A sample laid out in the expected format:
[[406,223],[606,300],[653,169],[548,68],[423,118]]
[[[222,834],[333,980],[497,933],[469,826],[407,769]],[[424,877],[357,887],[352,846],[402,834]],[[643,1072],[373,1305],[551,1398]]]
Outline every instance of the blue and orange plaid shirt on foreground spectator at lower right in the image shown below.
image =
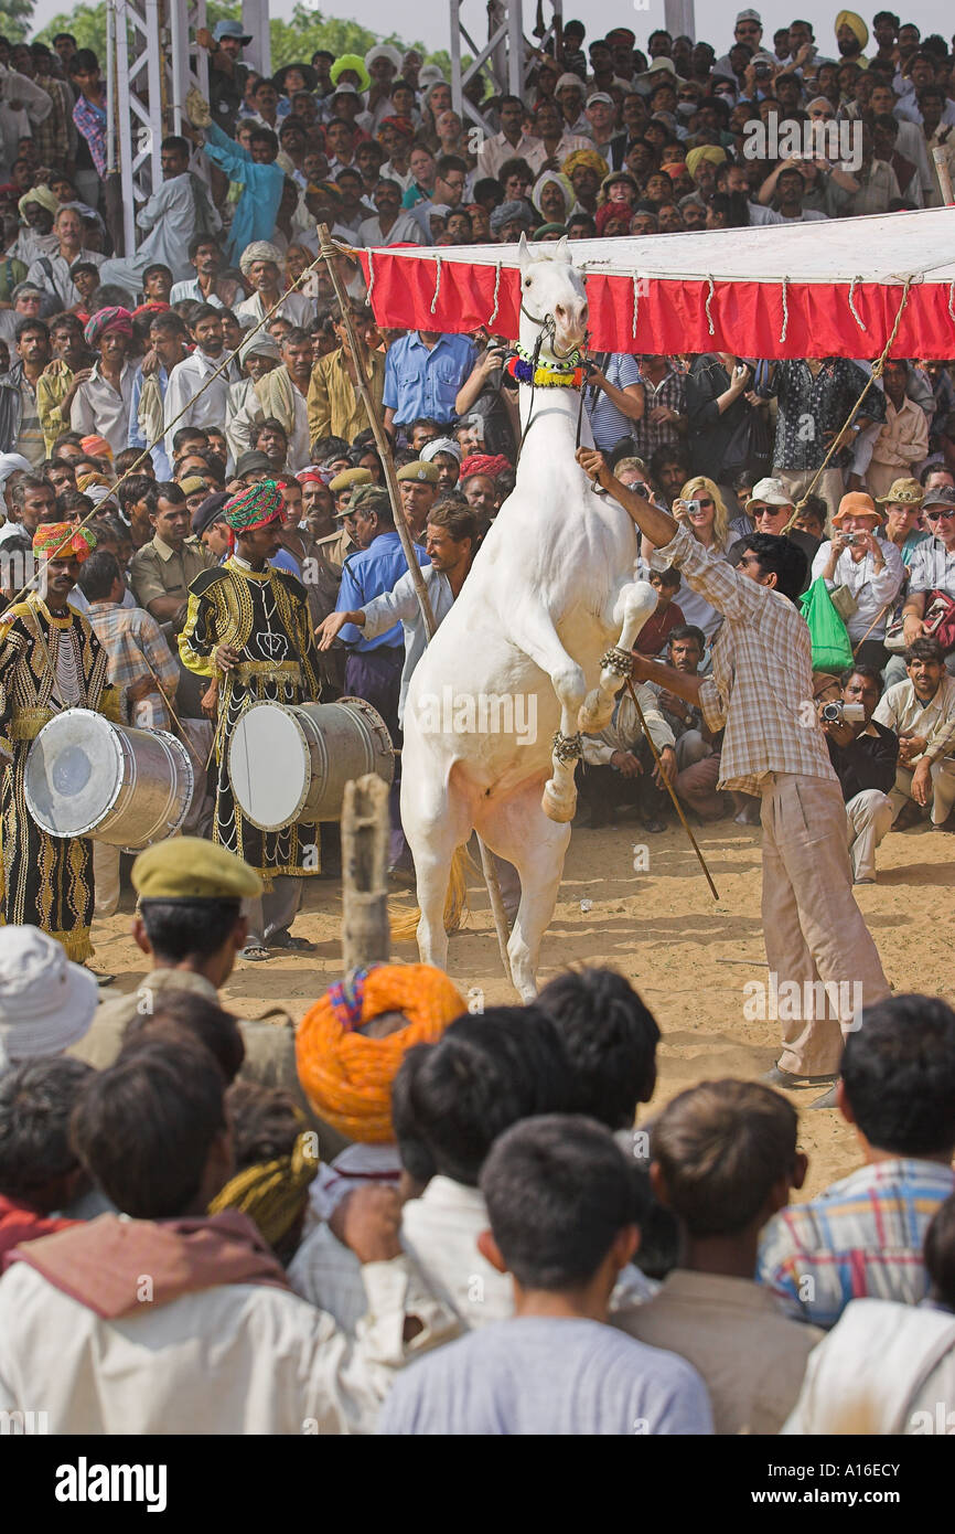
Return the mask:
[[929,1221],[953,1192],[955,1172],[938,1161],[861,1166],[770,1221],[757,1278],[789,1315],[817,1327],[834,1327],[851,1299],[915,1305],[927,1290]]

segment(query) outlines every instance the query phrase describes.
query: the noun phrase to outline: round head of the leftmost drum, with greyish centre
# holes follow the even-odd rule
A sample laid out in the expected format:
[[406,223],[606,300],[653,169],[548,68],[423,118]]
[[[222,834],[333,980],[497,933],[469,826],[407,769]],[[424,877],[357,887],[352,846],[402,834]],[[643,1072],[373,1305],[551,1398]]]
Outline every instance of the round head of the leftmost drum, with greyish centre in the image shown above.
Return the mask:
[[26,807],[49,836],[87,836],[113,805],[123,750],[107,719],[67,709],[40,730],[26,759]]

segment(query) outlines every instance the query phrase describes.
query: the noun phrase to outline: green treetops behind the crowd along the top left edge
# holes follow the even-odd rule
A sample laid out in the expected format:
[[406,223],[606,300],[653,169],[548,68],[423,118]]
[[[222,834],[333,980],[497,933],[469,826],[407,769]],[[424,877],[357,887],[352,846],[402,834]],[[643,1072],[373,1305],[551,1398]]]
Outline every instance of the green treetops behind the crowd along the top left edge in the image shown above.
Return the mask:
[[[34,0],[5,0],[5,8],[0,11],[0,23],[9,15],[15,15],[20,8],[29,17],[34,9]],[[208,6],[207,25],[212,29],[216,21],[222,20],[241,21],[241,6],[215,5],[213,0]],[[9,28],[14,28],[14,25],[11,21]],[[11,38],[25,35],[23,26],[18,32],[9,28],[0,25],[0,31],[5,31]],[[72,32],[80,48],[92,48],[97,57],[104,60],[106,5],[80,5],[74,11],[64,11],[61,15],[54,17],[38,37],[44,43],[52,43],[57,32]],[[388,37],[379,37],[377,32],[369,32],[366,26],[359,26],[357,21],[325,17],[320,11],[313,11],[310,6],[302,5],[300,0],[293,11],[291,21],[271,21],[270,34],[273,69],[281,69],[282,64],[291,64],[296,60],[308,61],[316,48],[327,48],[328,52],[337,57],[339,54],[366,54],[376,43],[394,43],[400,49],[417,48],[425,55],[426,63],[437,64],[446,78],[451,78],[451,55],[446,49],[437,54],[428,52],[425,43],[406,43],[394,32]]]

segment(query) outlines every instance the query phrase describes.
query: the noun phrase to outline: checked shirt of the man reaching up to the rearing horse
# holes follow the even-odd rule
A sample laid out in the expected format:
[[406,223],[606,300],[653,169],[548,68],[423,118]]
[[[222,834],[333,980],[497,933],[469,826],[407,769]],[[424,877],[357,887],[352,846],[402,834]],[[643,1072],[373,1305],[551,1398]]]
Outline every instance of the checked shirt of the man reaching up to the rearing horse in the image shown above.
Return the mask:
[[727,730],[717,787],[759,795],[774,772],[834,779],[812,706],[809,630],[793,603],[733,569],[688,528],[681,526],[650,563],[674,565],[727,620],[699,693],[707,726]]

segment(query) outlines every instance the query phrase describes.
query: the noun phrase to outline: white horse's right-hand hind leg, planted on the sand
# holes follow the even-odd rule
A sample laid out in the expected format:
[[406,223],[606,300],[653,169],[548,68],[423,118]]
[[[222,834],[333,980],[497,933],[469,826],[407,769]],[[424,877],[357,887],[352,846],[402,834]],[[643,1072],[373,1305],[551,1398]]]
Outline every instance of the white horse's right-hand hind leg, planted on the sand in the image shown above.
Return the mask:
[[550,925],[570,842],[570,827],[541,813],[537,784],[489,810],[481,819],[487,845],[507,858],[521,879],[521,904],[510,931],[507,957],[521,1000],[537,996],[541,939]]

